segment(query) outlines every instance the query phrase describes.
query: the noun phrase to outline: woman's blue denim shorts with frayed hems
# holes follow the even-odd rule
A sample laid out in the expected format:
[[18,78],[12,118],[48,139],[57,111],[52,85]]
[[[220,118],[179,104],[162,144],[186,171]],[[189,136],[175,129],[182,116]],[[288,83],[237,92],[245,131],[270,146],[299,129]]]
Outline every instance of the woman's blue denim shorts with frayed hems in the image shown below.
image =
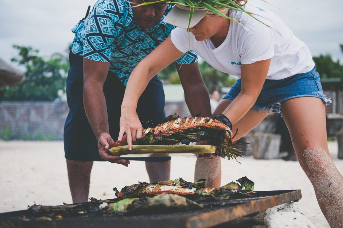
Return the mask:
[[[240,93],[240,88],[241,80],[238,79],[222,99],[227,99],[229,102],[232,102]],[[259,112],[267,110],[267,112],[273,111],[280,113],[281,102],[297,97],[318,97],[326,105],[331,103],[331,99],[323,93],[320,76],[316,68],[313,68],[309,72],[299,73],[285,79],[266,79],[261,93],[252,108],[257,109]]]

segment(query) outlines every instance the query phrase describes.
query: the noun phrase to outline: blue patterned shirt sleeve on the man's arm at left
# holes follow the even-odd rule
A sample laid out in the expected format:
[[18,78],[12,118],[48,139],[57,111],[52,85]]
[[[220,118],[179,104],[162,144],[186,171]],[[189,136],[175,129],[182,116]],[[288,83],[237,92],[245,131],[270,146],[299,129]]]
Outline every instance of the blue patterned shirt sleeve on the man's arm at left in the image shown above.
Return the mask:
[[115,13],[101,6],[92,12],[85,29],[83,57],[98,62],[110,61],[111,45],[122,27],[119,24],[120,13]]

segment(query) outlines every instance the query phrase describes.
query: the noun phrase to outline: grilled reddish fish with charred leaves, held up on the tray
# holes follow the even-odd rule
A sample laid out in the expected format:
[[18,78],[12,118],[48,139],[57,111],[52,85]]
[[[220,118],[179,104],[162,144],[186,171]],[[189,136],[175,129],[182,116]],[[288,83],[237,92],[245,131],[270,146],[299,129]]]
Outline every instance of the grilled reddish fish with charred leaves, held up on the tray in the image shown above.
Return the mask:
[[[236,132],[237,133],[237,132]],[[221,157],[231,159],[242,157],[244,148],[241,140],[233,142],[235,135],[224,123],[210,117],[179,118],[176,113],[167,117],[161,124],[142,130],[142,138],[136,145],[178,145],[208,141],[208,145],[217,146]],[[126,135],[111,147],[127,145]]]

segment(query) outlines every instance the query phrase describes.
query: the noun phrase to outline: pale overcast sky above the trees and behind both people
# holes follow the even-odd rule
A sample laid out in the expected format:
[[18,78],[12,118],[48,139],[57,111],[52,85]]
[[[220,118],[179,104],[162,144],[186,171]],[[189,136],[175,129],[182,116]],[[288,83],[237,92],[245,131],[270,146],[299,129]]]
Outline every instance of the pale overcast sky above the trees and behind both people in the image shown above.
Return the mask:
[[[331,54],[343,59],[343,13],[340,0],[248,0],[279,15],[313,56]],[[71,28],[96,0],[0,0],[0,53],[9,62],[13,44],[31,45],[44,55],[66,53],[73,40]],[[330,3],[330,4],[329,4]],[[296,8],[296,9],[294,9]]]

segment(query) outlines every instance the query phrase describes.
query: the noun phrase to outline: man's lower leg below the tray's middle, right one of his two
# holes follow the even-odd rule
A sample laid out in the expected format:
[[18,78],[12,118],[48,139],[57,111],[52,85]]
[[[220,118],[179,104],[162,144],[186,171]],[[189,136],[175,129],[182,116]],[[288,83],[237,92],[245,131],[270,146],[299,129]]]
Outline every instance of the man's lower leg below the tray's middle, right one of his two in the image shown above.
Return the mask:
[[160,182],[169,180],[170,178],[170,160],[158,162],[146,161],[145,167],[150,182]]

